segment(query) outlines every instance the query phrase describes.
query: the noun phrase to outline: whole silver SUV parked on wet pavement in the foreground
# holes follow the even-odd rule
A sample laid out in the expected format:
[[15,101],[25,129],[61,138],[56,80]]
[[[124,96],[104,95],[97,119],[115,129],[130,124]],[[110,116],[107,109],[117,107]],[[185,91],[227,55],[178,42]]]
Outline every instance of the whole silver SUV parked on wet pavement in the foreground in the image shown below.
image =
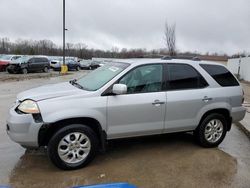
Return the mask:
[[7,132],[47,147],[61,169],[87,165],[107,140],[192,131],[216,147],[244,118],[243,90],[225,66],[191,60],[118,60],[70,82],[24,91]]

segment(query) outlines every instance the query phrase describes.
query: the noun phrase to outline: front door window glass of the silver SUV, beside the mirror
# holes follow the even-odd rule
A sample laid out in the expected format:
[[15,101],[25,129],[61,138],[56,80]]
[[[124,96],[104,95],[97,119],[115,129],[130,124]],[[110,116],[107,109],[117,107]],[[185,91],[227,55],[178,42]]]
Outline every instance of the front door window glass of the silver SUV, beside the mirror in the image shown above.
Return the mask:
[[127,73],[119,80],[127,85],[127,93],[158,92],[162,89],[162,65],[144,65]]

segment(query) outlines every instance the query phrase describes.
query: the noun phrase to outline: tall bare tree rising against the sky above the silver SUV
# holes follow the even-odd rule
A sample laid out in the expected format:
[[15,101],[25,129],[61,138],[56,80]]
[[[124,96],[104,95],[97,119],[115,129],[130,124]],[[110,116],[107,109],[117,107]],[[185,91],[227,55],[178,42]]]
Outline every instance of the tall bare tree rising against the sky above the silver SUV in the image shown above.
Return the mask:
[[175,24],[169,25],[168,22],[165,23],[164,40],[169,55],[176,55]]

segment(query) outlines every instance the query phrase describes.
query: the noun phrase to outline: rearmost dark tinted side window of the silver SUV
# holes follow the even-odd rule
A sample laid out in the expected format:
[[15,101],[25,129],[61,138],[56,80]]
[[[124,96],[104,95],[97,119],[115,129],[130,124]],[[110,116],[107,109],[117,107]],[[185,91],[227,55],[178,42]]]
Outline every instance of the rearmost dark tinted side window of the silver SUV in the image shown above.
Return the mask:
[[239,82],[235,79],[231,72],[220,65],[200,64],[207,73],[215,79],[215,81],[223,87],[238,86]]

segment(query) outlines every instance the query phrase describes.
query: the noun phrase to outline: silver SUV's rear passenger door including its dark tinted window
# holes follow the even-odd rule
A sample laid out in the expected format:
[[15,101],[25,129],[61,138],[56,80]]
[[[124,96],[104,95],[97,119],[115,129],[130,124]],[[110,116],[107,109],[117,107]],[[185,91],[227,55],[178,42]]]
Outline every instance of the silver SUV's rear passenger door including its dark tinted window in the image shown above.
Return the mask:
[[191,65],[166,66],[167,106],[164,132],[193,130],[199,111],[210,102],[208,83]]

